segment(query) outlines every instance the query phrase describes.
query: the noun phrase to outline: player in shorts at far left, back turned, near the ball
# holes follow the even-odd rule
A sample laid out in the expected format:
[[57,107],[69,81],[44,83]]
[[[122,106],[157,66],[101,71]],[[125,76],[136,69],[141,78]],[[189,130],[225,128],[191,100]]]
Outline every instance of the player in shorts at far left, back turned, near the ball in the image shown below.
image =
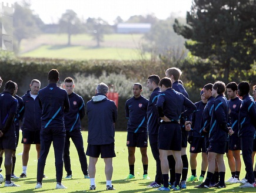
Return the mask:
[[9,80],[0,94],[0,149],[5,153],[5,187],[19,187],[11,181],[12,154],[16,150],[14,118],[18,110],[18,100],[13,96],[15,89],[15,83]]

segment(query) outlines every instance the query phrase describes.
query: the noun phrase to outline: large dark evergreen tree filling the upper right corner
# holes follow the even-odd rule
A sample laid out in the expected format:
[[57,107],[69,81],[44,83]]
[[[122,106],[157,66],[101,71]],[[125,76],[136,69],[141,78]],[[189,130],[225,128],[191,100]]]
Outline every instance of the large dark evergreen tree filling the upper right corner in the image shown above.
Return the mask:
[[[174,31],[194,56],[214,61],[224,82],[249,70],[256,54],[255,0],[194,0],[187,25],[175,19]],[[231,73],[232,71],[232,73]]]

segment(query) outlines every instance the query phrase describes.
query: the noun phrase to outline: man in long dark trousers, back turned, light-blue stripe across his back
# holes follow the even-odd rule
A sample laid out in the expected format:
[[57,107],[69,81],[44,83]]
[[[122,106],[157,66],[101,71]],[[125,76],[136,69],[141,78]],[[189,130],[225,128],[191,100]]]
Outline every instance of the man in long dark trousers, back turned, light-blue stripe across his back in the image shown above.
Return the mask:
[[42,104],[42,129],[40,133],[41,150],[37,167],[37,184],[35,188],[42,188],[42,178],[46,157],[51,143],[54,145],[56,189],[64,189],[61,184],[63,175],[63,153],[65,145],[64,111],[69,111],[68,93],[57,86],[59,72],[52,69],[48,73],[48,86],[39,90],[38,97]]

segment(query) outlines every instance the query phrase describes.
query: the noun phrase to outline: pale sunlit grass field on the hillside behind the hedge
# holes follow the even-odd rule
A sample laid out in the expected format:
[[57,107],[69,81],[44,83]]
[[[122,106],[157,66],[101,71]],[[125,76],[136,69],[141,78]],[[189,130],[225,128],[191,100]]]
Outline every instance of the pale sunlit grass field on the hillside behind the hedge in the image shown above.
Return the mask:
[[[141,34],[104,35],[101,48],[95,47],[95,40],[87,34],[71,36],[71,46],[67,46],[66,34],[42,34],[34,39],[21,42],[20,57],[48,57],[58,59],[105,59],[138,60],[141,59],[139,45]],[[145,55],[149,58],[149,54]]]

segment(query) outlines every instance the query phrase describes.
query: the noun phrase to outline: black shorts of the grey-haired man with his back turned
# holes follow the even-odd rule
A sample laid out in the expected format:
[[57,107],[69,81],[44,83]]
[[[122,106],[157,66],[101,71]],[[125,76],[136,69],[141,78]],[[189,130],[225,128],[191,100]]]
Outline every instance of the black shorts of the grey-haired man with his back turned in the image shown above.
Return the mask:
[[87,153],[90,157],[111,158],[115,157],[115,143],[105,145],[87,145]]

